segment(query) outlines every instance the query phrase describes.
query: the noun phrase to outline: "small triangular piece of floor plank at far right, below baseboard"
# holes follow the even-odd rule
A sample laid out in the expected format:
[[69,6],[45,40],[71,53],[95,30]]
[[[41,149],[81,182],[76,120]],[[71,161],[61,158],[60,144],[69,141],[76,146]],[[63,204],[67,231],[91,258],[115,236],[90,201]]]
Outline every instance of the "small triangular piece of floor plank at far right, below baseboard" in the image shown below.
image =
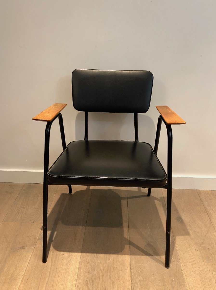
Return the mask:
[[216,231],[216,190],[197,190]]

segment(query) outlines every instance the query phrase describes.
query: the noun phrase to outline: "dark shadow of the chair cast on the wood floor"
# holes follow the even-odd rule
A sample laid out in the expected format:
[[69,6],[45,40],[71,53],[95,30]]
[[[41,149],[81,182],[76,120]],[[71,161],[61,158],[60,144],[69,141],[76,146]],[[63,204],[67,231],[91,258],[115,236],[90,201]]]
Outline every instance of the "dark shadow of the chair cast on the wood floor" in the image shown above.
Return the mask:
[[[125,249],[130,245],[131,255],[147,255],[164,265],[164,198],[157,189],[152,189],[151,197],[147,197],[147,190],[133,188],[127,192],[126,188],[87,186],[72,195],[59,194],[48,215],[47,254],[53,247],[59,252],[128,255]],[[172,210],[178,213],[174,203]],[[178,219],[182,227],[179,235],[189,235],[179,214]],[[172,237],[170,258],[174,246]]]

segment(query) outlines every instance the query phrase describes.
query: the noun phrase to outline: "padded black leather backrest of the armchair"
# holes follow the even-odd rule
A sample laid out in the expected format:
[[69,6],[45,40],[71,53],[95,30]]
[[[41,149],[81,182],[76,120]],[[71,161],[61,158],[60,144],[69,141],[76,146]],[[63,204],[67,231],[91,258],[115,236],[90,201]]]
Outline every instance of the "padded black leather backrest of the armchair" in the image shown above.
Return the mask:
[[78,111],[146,113],[153,75],[147,70],[86,70],[72,72],[73,106]]

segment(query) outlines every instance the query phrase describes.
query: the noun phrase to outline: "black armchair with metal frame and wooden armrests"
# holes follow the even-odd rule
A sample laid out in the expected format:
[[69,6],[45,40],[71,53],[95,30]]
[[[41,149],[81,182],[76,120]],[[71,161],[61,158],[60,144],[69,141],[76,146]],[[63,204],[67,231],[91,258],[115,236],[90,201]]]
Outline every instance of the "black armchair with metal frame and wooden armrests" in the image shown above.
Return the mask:
[[[54,104],[33,120],[46,121],[43,188],[43,259],[47,260],[47,200],[48,185],[131,186],[167,189],[167,225],[165,267],[170,267],[170,231],[172,200],[172,128],[171,124],[185,124],[167,106],[156,106],[158,118],[154,150],[138,139],[138,113],[146,113],[150,106],[153,75],[143,70],[86,70],[72,73],[72,98],[76,110],[85,112],[84,140],[66,146],[60,111],[66,104]],[[88,112],[133,113],[135,142],[88,140]],[[59,119],[63,152],[49,168],[50,128]],[[167,128],[167,174],[157,158],[161,123]]]

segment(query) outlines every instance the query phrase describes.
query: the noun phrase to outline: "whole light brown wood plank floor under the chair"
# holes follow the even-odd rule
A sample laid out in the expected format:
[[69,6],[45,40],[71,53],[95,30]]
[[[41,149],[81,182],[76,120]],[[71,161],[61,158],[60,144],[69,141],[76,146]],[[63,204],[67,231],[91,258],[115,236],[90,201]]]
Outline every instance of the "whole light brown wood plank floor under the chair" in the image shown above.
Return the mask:
[[0,183],[0,289],[216,289],[216,191],[49,186],[42,263],[42,184]]

